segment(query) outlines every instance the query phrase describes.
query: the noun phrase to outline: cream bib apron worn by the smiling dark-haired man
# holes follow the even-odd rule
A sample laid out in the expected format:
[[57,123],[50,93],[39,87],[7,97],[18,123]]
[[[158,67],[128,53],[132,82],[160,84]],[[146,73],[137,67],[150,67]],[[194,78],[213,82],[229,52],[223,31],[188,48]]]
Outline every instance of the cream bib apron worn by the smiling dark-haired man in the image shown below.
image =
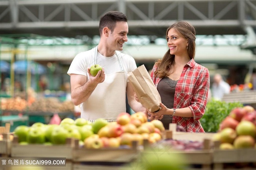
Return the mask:
[[[95,47],[93,64],[97,63],[98,46]],[[105,74],[105,80],[99,83],[91,96],[82,104],[81,117],[94,121],[104,118],[115,121],[121,112],[126,112],[125,94],[127,75],[123,63],[117,55],[120,72]]]

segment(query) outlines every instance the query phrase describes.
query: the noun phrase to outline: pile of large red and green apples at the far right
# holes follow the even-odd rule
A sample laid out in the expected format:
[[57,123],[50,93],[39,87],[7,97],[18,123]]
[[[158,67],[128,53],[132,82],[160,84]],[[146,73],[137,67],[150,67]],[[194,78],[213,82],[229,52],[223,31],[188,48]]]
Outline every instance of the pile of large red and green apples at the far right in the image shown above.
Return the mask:
[[220,124],[213,140],[220,149],[256,148],[256,111],[253,107],[234,108]]

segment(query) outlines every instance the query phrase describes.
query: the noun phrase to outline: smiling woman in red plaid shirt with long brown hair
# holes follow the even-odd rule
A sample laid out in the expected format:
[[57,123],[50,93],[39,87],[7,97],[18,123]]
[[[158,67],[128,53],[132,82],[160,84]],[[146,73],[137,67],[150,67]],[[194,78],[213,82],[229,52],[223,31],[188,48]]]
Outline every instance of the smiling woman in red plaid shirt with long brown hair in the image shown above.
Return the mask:
[[195,28],[180,21],[166,31],[169,47],[151,72],[151,78],[161,96],[162,109],[148,112],[149,119],[161,119],[165,129],[176,123],[187,132],[204,132],[199,119],[203,116],[210,86],[208,69],[194,61]]

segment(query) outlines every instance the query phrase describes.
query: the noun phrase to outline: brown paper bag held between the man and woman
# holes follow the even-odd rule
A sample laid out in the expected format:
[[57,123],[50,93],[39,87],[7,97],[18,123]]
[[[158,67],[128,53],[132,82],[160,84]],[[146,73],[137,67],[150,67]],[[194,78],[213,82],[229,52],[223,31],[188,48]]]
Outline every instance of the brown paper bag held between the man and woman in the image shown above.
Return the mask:
[[132,85],[140,103],[150,112],[158,112],[161,97],[144,65],[128,73],[128,80]]

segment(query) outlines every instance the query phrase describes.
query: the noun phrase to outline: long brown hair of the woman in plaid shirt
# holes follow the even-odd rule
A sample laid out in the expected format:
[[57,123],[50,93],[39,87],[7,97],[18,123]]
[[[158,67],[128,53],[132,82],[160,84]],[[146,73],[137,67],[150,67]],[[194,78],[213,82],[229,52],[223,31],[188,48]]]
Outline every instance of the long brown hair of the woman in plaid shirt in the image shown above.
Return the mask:
[[[172,24],[166,31],[166,40],[167,35],[170,29],[174,28],[177,32],[181,34],[184,38],[188,40],[188,55],[189,58],[195,58],[196,51],[196,30],[188,22],[180,21]],[[167,40],[168,41],[168,40]],[[169,76],[170,66],[174,64],[175,55],[170,54],[170,49],[168,49],[162,59],[158,59],[155,64],[158,66],[158,69],[155,71],[155,76],[159,78]]]

